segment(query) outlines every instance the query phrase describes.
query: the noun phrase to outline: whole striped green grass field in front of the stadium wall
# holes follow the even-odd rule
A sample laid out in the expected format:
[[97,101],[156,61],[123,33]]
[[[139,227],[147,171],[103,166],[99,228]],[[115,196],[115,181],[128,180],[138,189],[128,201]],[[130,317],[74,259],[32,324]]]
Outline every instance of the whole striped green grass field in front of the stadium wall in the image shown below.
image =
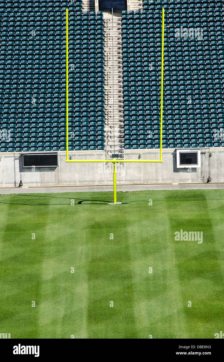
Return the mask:
[[[112,199],[0,195],[0,333],[214,338],[224,331],[223,190],[119,192],[122,205],[108,205]],[[202,231],[203,243],[175,241],[181,229]]]

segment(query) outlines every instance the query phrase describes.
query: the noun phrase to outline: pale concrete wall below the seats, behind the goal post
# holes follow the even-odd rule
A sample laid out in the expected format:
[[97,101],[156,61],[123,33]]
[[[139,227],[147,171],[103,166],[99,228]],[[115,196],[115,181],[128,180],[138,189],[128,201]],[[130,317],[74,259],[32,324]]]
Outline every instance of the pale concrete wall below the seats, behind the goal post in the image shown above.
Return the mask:
[[[224,181],[224,148],[211,148],[210,169],[214,182]],[[103,160],[104,151],[69,151],[75,160]],[[139,158],[141,157],[141,158]],[[20,153],[0,153],[0,187],[18,186],[63,186],[63,185],[98,185],[113,183],[111,163],[65,163],[65,152],[58,152],[57,168],[23,168]],[[125,150],[124,159],[156,160],[159,150]],[[164,149],[162,163],[122,163],[117,164],[118,184],[144,183],[180,183],[206,182],[208,178],[208,149],[201,149],[201,167],[177,169],[176,150]]]

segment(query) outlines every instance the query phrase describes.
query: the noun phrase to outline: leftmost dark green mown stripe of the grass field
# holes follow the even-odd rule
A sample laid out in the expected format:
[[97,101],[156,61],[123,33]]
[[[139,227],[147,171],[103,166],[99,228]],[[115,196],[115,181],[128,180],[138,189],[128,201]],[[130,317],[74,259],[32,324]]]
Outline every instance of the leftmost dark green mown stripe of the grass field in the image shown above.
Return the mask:
[[39,216],[45,206],[36,205],[31,195],[1,195],[0,200],[4,202],[1,216],[4,215],[5,220],[2,325],[9,329],[11,338],[36,338],[37,309],[31,307],[31,302],[37,300],[39,294],[42,253],[38,244],[45,229]]

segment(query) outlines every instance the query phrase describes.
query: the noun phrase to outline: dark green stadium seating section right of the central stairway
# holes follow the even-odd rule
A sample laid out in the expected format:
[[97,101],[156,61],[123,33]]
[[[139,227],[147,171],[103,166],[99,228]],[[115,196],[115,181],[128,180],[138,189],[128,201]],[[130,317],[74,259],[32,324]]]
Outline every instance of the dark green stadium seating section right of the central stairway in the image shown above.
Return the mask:
[[[162,1],[159,8],[148,3],[142,12],[122,13],[126,149],[160,147]],[[165,10],[164,148],[224,146],[224,8],[204,3]]]

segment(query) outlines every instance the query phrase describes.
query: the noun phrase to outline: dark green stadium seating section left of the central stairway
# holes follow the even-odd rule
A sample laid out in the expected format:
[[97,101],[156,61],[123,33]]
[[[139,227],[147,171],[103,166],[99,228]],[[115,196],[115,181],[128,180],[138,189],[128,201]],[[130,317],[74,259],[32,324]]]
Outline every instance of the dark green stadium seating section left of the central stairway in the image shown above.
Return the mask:
[[[66,150],[64,3],[16,4],[0,12],[0,151]],[[103,15],[81,12],[81,1],[69,9],[68,51],[69,150],[101,150]]]

